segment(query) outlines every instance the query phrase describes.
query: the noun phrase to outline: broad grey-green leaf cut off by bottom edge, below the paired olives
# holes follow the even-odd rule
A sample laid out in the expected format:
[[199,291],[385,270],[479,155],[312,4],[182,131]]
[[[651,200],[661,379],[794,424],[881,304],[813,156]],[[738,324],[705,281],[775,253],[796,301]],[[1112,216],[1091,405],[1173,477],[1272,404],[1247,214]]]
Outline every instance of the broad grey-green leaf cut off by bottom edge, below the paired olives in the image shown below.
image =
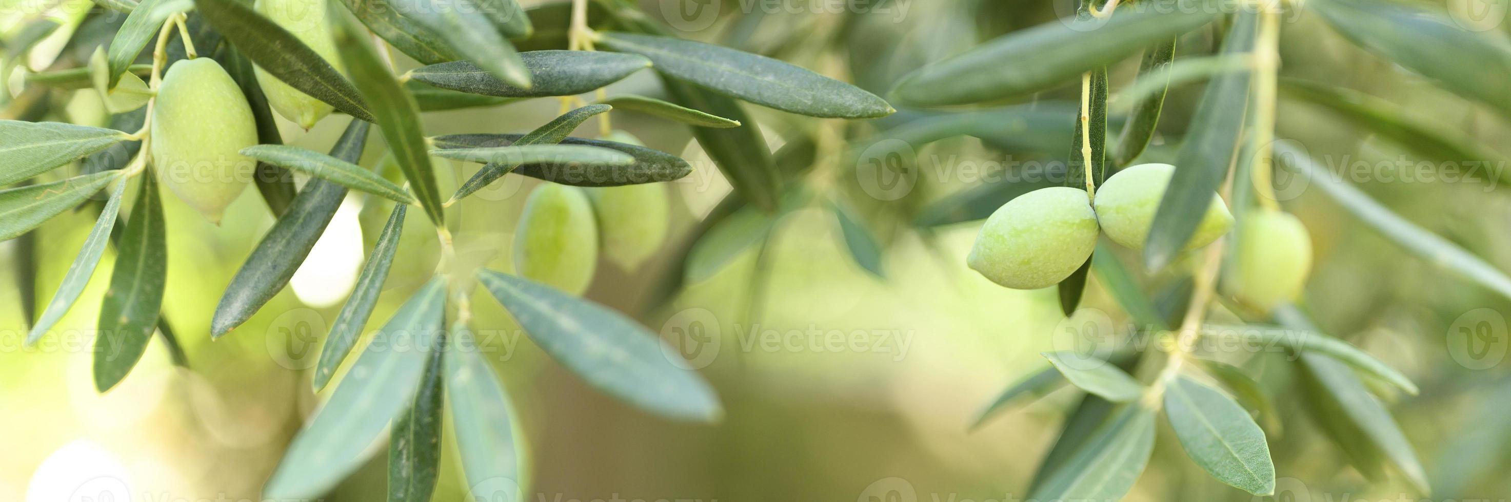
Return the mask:
[[1154,449],[1154,412],[1124,406],[1035,487],[1035,500],[1118,500],[1144,472]]

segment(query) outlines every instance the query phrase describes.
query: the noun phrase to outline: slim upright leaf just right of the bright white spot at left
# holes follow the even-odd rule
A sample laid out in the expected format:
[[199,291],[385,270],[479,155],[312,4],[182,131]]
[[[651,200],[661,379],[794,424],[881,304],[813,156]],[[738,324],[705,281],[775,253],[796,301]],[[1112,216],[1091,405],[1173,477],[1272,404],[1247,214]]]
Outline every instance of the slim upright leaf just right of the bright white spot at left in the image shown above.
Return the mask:
[[314,392],[325,389],[325,384],[335,375],[335,368],[341,365],[341,360],[352,351],[352,347],[357,347],[357,338],[367,327],[367,317],[373,314],[373,306],[378,305],[378,295],[382,294],[382,283],[388,279],[388,267],[393,267],[393,255],[399,249],[399,235],[403,232],[406,208],[403,204],[393,207],[393,213],[388,214],[388,223],[378,234],[378,244],[373,246],[373,252],[367,255],[367,264],[363,265],[361,274],[357,276],[352,295],[346,298],[346,305],[341,305],[341,312],[335,314],[335,321],[331,323],[331,333],[325,336],[325,347],[320,348],[320,360],[314,366]]

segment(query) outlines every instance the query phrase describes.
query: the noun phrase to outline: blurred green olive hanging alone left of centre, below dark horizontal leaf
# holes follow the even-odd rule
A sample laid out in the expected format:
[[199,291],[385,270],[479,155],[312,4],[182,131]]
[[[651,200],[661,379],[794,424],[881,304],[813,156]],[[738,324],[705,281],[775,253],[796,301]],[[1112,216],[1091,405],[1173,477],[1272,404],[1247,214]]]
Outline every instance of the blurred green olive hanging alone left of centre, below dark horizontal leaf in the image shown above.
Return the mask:
[[536,187],[514,232],[515,273],[582,294],[597,265],[598,223],[583,190],[555,182]]

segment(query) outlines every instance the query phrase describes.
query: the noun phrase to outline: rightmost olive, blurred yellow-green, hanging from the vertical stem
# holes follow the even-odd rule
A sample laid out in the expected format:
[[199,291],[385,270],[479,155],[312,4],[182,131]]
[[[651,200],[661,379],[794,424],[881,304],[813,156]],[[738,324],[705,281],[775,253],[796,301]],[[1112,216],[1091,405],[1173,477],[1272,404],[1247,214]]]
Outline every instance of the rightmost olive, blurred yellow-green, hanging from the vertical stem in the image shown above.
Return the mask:
[[1312,237],[1290,213],[1254,210],[1239,228],[1234,295],[1265,311],[1295,300],[1312,271]]

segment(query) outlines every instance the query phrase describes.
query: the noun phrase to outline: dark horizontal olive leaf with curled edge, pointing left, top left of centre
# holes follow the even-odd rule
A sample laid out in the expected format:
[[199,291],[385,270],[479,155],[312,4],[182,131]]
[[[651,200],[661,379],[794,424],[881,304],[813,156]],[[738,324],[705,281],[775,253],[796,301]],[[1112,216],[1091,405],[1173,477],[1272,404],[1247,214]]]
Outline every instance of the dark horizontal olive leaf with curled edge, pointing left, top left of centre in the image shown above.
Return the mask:
[[651,62],[636,54],[595,51],[530,51],[520,53],[530,72],[530,87],[518,87],[471,62],[458,60],[420,66],[409,77],[441,89],[503,98],[570,96],[624,80],[650,68]]

